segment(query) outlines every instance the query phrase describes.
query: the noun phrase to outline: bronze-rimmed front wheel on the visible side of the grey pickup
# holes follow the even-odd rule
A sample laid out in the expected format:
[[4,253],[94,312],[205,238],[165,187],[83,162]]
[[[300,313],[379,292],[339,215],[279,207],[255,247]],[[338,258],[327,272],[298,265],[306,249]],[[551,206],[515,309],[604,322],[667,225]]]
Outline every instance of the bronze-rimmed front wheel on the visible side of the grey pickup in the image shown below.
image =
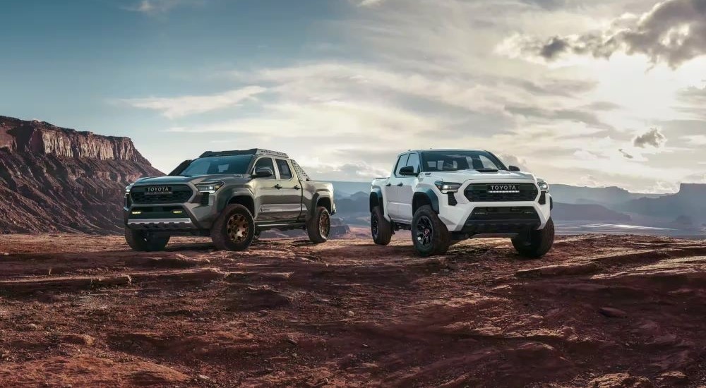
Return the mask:
[[246,250],[254,237],[253,214],[243,205],[225,207],[211,228],[211,239],[220,250]]

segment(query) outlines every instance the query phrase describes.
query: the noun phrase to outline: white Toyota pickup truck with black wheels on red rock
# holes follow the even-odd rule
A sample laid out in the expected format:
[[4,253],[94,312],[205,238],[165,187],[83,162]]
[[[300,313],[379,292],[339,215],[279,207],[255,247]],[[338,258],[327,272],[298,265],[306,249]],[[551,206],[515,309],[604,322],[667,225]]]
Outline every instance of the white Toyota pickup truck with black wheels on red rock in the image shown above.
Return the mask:
[[542,257],[554,243],[549,185],[482,150],[410,150],[389,178],[373,180],[371,233],[380,245],[412,231],[422,256],[455,241],[509,237],[520,255]]

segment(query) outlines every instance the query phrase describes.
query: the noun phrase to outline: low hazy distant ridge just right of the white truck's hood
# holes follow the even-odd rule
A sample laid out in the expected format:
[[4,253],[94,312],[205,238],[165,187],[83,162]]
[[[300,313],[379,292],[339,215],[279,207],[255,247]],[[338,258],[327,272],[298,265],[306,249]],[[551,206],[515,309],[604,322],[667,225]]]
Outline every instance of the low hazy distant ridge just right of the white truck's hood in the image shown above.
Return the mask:
[[551,196],[561,203],[595,203],[600,205],[618,205],[638,198],[659,198],[661,194],[630,193],[618,187],[580,187],[555,184],[550,186]]

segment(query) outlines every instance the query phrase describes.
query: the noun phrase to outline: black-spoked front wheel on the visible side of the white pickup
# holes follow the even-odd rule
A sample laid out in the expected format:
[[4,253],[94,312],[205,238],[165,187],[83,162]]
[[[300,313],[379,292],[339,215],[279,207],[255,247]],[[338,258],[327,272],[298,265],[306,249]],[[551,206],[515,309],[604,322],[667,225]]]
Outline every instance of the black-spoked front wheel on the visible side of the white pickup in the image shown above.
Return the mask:
[[451,245],[451,234],[431,206],[424,205],[414,212],[412,242],[419,255],[443,255]]

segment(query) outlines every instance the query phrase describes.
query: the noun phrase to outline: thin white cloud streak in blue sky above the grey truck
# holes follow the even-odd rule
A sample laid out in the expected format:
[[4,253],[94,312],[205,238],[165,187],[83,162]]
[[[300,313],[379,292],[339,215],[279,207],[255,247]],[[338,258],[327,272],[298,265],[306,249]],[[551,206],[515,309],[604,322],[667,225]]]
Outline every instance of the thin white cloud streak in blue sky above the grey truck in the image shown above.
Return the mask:
[[216,95],[131,98],[119,99],[118,101],[135,108],[159,111],[164,117],[177,119],[191,114],[235,107],[265,91],[264,87],[246,86]]

